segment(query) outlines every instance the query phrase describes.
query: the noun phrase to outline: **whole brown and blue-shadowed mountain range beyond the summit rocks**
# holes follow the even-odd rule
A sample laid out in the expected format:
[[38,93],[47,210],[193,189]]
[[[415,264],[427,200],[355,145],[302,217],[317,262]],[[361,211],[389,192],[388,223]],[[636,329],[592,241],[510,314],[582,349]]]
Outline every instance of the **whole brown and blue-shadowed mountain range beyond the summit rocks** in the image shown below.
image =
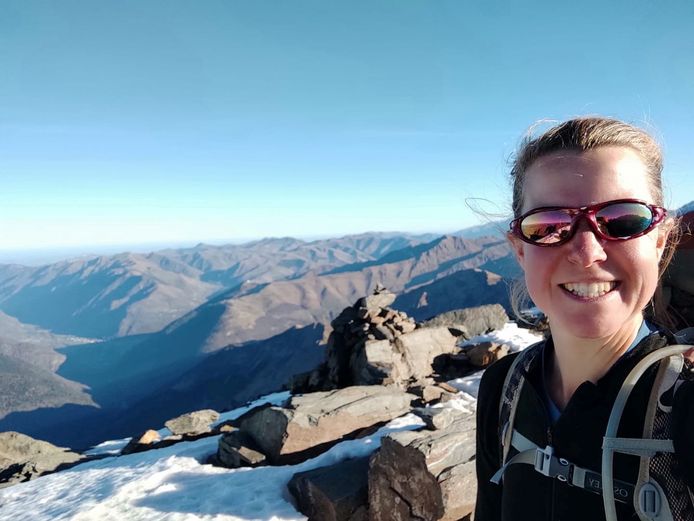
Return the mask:
[[0,266],[0,310],[43,335],[31,348],[39,357],[19,340],[1,352],[0,368],[34,390],[8,393],[0,430],[84,447],[191,408],[235,407],[320,362],[330,321],[378,284],[425,319],[508,305],[503,281],[518,270],[498,236],[407,234]]

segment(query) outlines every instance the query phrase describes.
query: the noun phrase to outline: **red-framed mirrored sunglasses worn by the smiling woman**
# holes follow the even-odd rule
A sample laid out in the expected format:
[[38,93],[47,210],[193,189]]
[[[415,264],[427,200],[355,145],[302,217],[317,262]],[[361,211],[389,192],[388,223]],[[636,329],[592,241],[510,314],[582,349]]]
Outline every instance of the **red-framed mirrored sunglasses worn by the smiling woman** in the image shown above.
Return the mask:
[[584,216],[595,235],[608,241],[640,237],[660,223],[667,211],[638,199],[618,199],[581,208],[545,206],[511,221],[511,233],[535,246],[559,246],[574,233]]

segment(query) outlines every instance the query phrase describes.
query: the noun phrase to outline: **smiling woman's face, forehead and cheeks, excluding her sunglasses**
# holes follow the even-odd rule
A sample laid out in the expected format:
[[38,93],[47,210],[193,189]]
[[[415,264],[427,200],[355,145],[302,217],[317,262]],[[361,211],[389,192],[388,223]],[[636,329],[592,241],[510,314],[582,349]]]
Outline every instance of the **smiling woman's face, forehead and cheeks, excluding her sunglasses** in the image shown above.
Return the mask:
[[[632,149],[615,146],[541,157],[526,171],[523,191],[523,213],[613,199],[655,202],[644,163]],[[595,339],[629,334],[655,292],[666,228],[660,225],[627,241],[606,241],[593,234],[584,218],[577,226],[571,240],[556,247],[512,237],[530,296],[555,331]]]

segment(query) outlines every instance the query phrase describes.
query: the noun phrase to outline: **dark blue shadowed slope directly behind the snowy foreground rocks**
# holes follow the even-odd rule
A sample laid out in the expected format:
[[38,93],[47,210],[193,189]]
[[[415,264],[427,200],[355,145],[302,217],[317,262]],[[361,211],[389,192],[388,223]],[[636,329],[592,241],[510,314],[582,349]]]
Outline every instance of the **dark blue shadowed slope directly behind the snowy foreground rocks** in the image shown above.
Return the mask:
[[[156,428],[191,410],[225,410],[280,390],[292,375],[313,369],[323,360],[324,349],[318,345],[322,337],[320,325],[292,328],[273,338],[222,349],[198,359],[185,371],[160,374],[149,385],[140,387],[139,394],[122,386],[121,391],[129,392],[114,395],[99,408],[75,401],[56,404],[57,408],[14,412],[0,418],[0,431],[16,430],[57,445],[83,449],[104,439]],[[1,364],[2,358],[0,369]],[[102,388],[100,397],[106,396],[106,391]]]

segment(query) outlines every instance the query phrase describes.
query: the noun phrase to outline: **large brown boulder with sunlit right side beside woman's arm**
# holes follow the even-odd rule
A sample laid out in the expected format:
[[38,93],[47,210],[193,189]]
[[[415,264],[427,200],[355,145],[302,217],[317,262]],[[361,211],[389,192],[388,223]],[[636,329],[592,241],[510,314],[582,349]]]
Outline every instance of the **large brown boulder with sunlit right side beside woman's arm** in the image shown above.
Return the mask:
[[372,521],[465,518],[477,493],[475,415],[441,430],[390,434],[370,467]]

